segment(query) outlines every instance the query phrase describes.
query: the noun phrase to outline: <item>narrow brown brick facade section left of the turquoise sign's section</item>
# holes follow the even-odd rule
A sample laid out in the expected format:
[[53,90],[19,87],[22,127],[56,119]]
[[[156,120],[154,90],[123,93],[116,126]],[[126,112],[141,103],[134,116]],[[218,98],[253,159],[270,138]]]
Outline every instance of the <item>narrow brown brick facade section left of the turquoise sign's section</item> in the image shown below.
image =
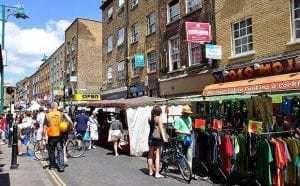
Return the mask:
[[101,5],[103,15],[103,99],[127,98],[128,91],[128,1],[107,0]]

